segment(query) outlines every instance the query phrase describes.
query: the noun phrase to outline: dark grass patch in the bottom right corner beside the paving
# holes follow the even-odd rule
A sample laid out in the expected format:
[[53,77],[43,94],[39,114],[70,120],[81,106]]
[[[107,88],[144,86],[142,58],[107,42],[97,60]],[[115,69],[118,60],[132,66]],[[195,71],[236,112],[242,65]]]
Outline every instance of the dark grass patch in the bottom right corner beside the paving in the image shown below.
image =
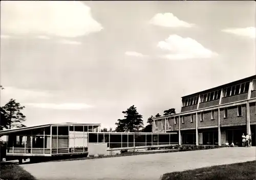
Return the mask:
[[256,161],[166,173],[161,180],[253,180]]

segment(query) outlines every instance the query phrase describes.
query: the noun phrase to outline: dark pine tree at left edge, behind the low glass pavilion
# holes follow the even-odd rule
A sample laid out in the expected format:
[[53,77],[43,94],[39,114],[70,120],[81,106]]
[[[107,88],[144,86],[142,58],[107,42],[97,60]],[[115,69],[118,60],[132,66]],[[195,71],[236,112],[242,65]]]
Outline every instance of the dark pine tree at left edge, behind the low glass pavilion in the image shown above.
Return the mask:
[[[0,89],[4,90],[5,88],[0,86]],[[5,106],[0,107],[0,130],[25,127],[26,116],[22,113],[24,108],[25,106],[21,106],[16,99],[10,99]]]

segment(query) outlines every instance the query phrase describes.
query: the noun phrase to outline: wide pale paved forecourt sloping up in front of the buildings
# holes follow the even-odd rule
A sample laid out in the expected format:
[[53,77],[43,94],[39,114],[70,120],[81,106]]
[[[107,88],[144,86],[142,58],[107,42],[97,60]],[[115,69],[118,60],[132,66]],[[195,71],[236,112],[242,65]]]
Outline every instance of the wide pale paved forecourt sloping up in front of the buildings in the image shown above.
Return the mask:
[[167,172],[255,160],[256,148],[230,147],[118,158],[24,164],[38,180],[158,180]]

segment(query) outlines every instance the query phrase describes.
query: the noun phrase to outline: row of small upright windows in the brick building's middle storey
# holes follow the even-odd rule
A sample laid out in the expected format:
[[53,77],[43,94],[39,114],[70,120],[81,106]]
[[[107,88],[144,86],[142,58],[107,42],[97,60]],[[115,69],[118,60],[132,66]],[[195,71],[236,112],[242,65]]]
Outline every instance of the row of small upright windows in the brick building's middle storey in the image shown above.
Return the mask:
[[[211,110],[211,120],[215,119],[215,117],[216,117],[215,112],[216,112],[215,110]],[[237,114],[238,116],[242,116],[242,106],[237,106],[237,113],[238,113]],[[194,116],[195,116],[195,114],[190,115],[190,122],[194,122]],[[224,118],[227,118],[227,117],[228,117],[228,109],[224,108]],[[177,124],[178,118],[179,118],[178,116],[175,117],[174,124]],[[171,119],[168,119],[167,126],[169,126],[170,120]],[[181,116],[181,121],[183,124],[185,123],[185,116]],[[204,121],[204,113],[203,112],[200,113],[200,121]],[[161,123],[162,123],[162,127],[164,127],[164,119],[162,119]]]

